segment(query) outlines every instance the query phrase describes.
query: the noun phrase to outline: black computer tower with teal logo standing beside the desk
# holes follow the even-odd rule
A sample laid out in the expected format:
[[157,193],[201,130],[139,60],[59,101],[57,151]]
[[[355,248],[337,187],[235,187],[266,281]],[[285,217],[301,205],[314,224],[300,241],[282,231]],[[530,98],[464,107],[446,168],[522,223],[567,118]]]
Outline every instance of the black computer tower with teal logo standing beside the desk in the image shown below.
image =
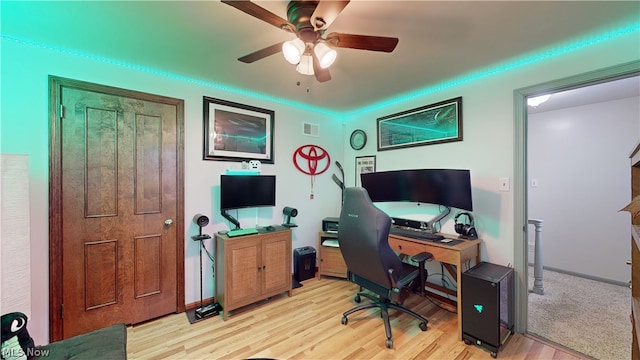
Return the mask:
[[492,357],[513,332],[513,269],[481,262],[462,274],[462,339]]

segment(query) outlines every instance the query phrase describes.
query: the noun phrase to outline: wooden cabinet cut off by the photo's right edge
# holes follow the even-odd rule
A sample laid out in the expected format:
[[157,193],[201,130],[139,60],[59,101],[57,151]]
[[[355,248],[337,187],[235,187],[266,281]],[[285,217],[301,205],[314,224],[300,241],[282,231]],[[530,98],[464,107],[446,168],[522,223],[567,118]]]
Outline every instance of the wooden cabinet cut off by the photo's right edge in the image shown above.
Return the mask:
[[[631,198],[640,195],[640,143],[631,153]],[[633,344],[631,358],[640,360],[640,216],[631,217],[631,309]]]

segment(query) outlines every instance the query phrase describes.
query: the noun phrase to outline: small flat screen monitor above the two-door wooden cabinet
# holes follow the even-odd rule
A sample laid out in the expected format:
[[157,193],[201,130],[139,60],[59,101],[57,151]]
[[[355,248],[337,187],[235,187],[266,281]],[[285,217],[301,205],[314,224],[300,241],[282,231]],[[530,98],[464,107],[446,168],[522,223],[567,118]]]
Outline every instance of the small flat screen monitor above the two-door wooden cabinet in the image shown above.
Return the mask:
[[276,206],[275,175],[220,175],[220,209]]

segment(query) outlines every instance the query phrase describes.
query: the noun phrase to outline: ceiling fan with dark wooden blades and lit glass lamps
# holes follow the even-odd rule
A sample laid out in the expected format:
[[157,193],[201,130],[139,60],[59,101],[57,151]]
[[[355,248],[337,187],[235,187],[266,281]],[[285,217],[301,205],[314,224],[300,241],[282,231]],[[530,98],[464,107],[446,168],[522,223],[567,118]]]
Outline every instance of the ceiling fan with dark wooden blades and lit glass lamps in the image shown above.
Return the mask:
[[337,32],[325,36],[327,28],[349,4],[349,0],[290,1],[287,20],[248,0],[221,1],[297,36],[294,40],[273,44],[238,60],[252,63],[282,51],[288,62],[297,65],[299,73],[315,75],[320,82],[331,80],[328,68],[336,58],[336,51],[332,47],[392,52],[398,45],[398,38],[383,36]]

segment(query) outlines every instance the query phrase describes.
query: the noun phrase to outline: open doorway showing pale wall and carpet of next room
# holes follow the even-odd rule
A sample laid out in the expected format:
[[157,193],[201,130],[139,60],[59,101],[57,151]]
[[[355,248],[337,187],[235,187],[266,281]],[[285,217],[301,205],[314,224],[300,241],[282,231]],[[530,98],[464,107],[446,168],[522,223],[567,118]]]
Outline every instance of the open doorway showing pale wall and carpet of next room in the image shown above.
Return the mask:
[[[527,211],[542,225],[544,255],[543,288],[529,274],[527,329],[603,360],[631,356],[622,335],[630,333],[630,234],[618,210],[631,198],[639,79],[549,94],[527,117]],[[530,247],[534,238],[529,226]]]

